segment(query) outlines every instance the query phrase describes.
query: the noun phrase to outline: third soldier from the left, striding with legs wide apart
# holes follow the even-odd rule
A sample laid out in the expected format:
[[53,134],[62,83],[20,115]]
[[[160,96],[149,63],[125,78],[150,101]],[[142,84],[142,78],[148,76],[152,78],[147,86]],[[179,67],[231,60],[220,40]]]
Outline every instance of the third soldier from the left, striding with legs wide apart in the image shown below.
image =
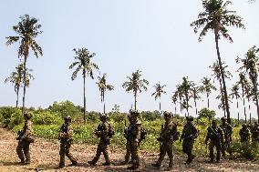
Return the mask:
[[97,147],[96,156],[93,160],[88,161],[88,164],[91,166],[96,166],[98,162],[98,158],[100,157],[101,153],[105,158],[105,163],[102,166],[109,166],[109,154],[108,154],[108,147],[110,143],[110,138],[114,135],[114,131],[112,130],[110,124],[108,123],[109,116],[106,114],[100,114],[101,124],[98,125],[98,128],[95,130],[95,135],[99,137],[99,143]]

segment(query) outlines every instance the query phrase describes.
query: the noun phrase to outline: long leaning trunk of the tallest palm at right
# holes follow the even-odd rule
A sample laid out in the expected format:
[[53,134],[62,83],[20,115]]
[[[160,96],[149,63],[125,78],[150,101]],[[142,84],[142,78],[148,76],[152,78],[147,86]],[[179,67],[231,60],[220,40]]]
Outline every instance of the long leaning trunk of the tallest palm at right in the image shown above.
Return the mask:
[[223,79],[223,92],[224,92],[224,101],[225,101],[225,108],[226,108],[226,113],[227,113],[227,121],[229,124],[231,124],[231,118],[230,118],[230,111],[229,111],[229,105],[228,105],[228,94],[226,90],[226,84],[225,84],[225,78],[223,75],[223,64],[222,64],[222,59],[220,55],[220,49],[219,49],[219,35],[216,30],[214,30],[214,35],[215,35],[215,42],[216,42],[216,49],[217,49],[217,56],[219,60],[219,65],[221,69],[221,75]]

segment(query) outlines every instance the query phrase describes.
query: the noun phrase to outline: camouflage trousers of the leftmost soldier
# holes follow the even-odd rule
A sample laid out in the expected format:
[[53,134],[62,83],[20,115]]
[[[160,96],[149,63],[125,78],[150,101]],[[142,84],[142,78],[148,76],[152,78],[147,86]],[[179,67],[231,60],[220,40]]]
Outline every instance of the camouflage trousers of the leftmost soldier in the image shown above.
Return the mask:
[[22,163],[30,163],[30,143],[24,139],[19,140],[18,146],[16,147],[18,157]]

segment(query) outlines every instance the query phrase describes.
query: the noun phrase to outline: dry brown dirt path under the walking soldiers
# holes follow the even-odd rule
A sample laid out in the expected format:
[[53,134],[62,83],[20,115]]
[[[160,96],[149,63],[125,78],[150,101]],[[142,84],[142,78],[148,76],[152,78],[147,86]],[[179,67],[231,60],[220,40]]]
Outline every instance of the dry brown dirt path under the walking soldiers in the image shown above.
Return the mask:
[[[95,155],[96,147],[88,145],[74,144],[71,153],[78,158],[78,167],[65,167],[57,169],[59,161],[57,140],[47,140],[37,138],[36,143],[31,146],[31,165],[20,166],[18,157],[16,156],[16,136],[3,127],[0,127],[0,172],[2,171],[127,171],[127,166],[119,166],[123,161],[124,152],[111,151],[109,156],[115,165],[110,167],[100,166],[104,162],[103,157],[98,162],[98,166],[88,166],[88,160]],[[158,158],[157,154],[150,152],[141,152],[141,167],[138,171],[159,171],[150,166]],[[202,157],[196,158],[192,165],[184,165],[185,157],[175,156],[174,168],[171,171],[259,171],[259,165],[250,161],[227,160],[219,164],[205,163]],[[165,159],[164,167],[167,167],[168,159]],[[67,160],[66,165],[70,162]],[[116,165],[117,164],[117,165]],[[166,168],[162,169],[166,170]],[[129,170],[128,170],[129,171]]]

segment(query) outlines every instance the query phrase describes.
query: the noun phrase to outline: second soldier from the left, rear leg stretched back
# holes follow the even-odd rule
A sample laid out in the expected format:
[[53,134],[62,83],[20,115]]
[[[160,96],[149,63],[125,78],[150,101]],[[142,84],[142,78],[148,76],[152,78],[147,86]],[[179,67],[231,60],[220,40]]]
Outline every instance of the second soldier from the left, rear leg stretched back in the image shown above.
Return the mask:
[[71,161],[72,166],[77,166],[78,161],[75,157],[71,155],[69,152],[69,149],[72,145],[72,136],[73,136],[73,128],[71,126],[72,118],[71,116],[65,116],[64,117],[64,124],[60,127],[58,132],[58,140],[60,141],[60,150],[59,150],[59,156],[60,161],[58,167],[63,168],[65,167],[65,156],[69,158]]

